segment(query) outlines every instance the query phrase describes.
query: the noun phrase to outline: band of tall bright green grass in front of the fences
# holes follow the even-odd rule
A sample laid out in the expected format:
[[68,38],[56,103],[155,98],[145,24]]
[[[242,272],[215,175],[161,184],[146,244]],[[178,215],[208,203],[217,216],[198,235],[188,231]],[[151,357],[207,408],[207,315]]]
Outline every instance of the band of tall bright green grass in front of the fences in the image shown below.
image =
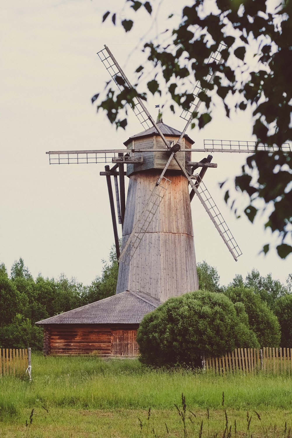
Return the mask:
[[137,360],[32,355],[32,382],[0,379],[0,419],[25,407],[173,409],[182,392],[190,409],[263,410],[292,406],[292,380],[281,375],[216,376],[185,370],[151,371]]

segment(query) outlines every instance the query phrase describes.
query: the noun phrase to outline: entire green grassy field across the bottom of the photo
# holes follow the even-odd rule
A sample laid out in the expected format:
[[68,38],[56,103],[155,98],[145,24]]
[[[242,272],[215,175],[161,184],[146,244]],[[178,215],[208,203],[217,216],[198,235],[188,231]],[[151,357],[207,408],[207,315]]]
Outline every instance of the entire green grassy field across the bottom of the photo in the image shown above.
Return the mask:
[[137,360],[33,355],[32,378],[0,379],[0,437],[291,435],[288,376],[149,371]]

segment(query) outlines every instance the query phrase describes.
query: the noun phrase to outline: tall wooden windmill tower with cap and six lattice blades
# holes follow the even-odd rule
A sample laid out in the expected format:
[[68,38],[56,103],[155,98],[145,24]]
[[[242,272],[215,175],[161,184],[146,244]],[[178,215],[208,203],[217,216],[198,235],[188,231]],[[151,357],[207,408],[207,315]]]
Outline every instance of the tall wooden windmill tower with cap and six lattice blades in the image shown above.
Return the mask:
[[[223,45],[213,53],[209,63],[222,63]],[[98,53],[111,78],[121,89],[133,88],[107,46]],[[214,73],[205,78],[210,82]],[[242,254],[225,220],[218,210],[202,179],[211,163],[212,155],[191,161],[191,152],[247,152],[257,146],[253,141],[204,140],[204,149],[193,149],[193,141],[186,129],[201,104],[198,98],[204,92],[197,84],[193,91],[193,103],[181,117],[186,126],[180,132],[155,120],[143,101],[134,98],[134,113],[143,132],[133,135],[120,150],[50,151],[50,164],[113,162],[105,166],[109,189],[109,201],[113,219],[119,274],[116,293],[125,290],[142,290],[161,301],[198,289],[196,258],[193,242],[193,225],[190,202],[196,194],[207,214],[222,237],[234,260]],[[271,150],[270,148],[267,150]],[[289,145],[282,150],[290,151]],[[124,172],[124,166],[127,172]],[[194,175],[194,170],[201,172]],[[129,177],[127,205],[125,203],[124,176]],[[120,251],[111,177],[114,179],[116,210],[122,225]],[[120,187],[118,184],[118,177]],[[189,192],[190,185],[190,192]]]

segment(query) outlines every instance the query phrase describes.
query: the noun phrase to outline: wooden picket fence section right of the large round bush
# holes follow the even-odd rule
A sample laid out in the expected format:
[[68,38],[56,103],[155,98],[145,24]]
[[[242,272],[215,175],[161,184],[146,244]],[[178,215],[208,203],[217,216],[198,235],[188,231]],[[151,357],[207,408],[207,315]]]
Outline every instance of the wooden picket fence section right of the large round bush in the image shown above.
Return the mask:
[[292,348],[236,348],[222,357],[202,357],[203,368],[218,374],[243,371],[254,374],[258,371],[266,373],[292,373]]

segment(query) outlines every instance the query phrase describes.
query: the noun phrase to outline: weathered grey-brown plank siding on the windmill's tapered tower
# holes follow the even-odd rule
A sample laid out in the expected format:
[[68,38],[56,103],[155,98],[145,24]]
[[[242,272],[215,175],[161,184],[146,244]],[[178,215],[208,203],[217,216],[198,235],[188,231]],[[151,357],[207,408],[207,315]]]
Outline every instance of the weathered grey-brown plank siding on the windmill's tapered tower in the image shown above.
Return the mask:
[[[159,171],[130,176],[122,248],[155,186]],[[168,171],[171,184],[130,265],[120,262],[116,293],[143,290],[165,301],[198,289],[188,181]]]

